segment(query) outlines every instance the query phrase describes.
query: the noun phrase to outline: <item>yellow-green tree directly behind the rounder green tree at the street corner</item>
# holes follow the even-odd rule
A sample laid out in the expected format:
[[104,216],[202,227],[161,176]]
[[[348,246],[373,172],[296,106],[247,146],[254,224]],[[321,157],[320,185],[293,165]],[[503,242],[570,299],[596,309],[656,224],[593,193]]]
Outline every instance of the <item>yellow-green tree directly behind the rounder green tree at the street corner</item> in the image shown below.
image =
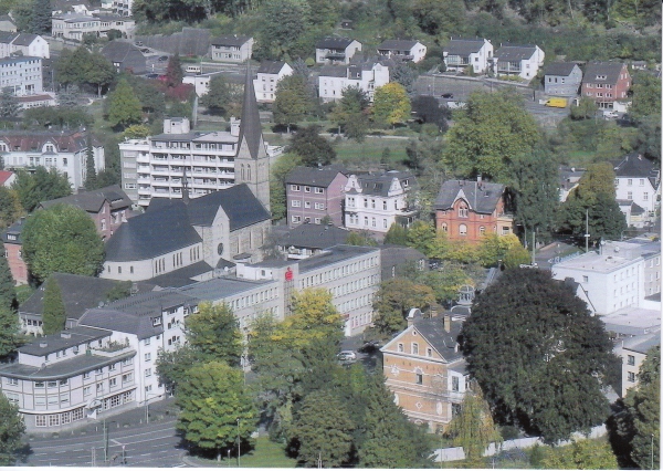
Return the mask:
[[187,343],[201,363],[240,366],[243,349],[240,324],[225,304],[201,303],[199,311],[187,318]]

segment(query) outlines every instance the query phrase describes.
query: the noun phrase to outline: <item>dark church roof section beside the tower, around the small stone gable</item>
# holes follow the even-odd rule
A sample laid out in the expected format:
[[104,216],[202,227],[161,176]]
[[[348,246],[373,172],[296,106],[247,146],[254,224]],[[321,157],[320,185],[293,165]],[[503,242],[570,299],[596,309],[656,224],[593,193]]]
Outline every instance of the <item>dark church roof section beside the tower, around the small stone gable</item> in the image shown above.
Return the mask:
[[219,207],[228,216],[231,231],[271,219],[249,186],[241,184],[192,199],[187,206],[191,224],[211,226]]

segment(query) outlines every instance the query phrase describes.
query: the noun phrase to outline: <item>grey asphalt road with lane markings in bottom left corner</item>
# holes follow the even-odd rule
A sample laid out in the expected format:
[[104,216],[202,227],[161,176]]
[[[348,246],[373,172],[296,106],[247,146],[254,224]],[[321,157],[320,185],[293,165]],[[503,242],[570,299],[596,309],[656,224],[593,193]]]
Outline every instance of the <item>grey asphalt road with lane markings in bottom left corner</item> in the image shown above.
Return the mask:
[[[113,418],[110,418],[113,420]],[[156,423],[117,428],[108,426],[108,458],[110,465],[120,465],[122,447],[125,446],[127,467],[137,468],[183,468],[186,450],[175,430],[175,419]],[[30,450],[20,465],[31,467],[91,467],[104,464],[104,432],[99,425],[97,431],[87,435],[63,432],[61,438],[33,438]],[[93,451],[94,449],[94,451]],[[93,463],[93,453],[96,459]],[[117,457],[115,461],[113,457]]]

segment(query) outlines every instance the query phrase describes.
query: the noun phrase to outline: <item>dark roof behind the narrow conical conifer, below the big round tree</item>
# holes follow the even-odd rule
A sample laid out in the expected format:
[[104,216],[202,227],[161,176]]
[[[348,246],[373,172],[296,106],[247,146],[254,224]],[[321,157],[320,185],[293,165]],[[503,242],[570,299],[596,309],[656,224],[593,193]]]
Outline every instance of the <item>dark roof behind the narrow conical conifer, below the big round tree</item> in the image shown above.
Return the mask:
[[[106,294],[118,283],[115,280],[104,280],[94,276],[82,276],[69,273],[53,273],[60,291],[67,318],[80,318],[85,310],[97,307],[106,301]],[[44,310],[44,286],[42,284],[19,307],[20,314],[41,316]]]

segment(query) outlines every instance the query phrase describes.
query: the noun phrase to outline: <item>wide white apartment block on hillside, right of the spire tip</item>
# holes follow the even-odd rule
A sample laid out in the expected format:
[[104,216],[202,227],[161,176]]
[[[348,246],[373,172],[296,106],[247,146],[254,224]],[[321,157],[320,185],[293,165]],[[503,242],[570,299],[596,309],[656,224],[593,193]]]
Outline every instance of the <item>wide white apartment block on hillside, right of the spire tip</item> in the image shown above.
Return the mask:
[[318,77],[318,92],[323,102],[340,100],[343,91],[359,87],[372,102],[376,88],[389,83],[389,67],[379,62],[354,65],[326,65]]

